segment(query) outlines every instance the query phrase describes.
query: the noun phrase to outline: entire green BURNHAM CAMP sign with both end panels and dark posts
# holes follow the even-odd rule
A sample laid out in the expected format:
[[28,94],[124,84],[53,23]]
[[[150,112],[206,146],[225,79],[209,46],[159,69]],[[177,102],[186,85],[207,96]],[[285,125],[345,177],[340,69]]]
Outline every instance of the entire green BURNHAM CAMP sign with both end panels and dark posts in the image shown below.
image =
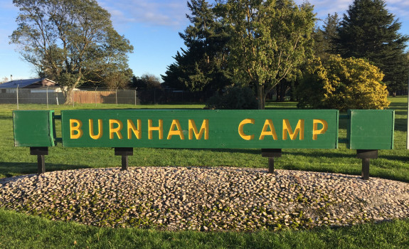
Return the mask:
[[[281,149],[336,149],[338,110],[63,110],[14,111],[14,145],[31,147],[38,174],[45,172],[48,147],[114,147],[127,169],[134,147],[260,148],[270,157]],[[378,149],[393,149],[393,110],[349,110],[346,147],[362,159],[363,179],[369,178],[369,159]],[[62,138],[55,138],[55,120]],[[277,149],[277,150],[275,150]]]

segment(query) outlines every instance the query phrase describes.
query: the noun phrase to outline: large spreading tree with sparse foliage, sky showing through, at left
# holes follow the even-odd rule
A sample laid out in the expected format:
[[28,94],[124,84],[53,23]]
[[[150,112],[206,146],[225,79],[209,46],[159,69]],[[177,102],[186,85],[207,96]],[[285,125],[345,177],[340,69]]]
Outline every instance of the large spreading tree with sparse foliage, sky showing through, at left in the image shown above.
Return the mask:
[[[11,43],[39,75],[57,80],[70,103],[73,89],[129,74],[129,41],[112,27],[95,0],[14,0],[20,9]],[[122,75],[123,76],[123,75]],[[121,76],[121,78],[122,78]],[[117,76],[115,76],[117,77]]]

